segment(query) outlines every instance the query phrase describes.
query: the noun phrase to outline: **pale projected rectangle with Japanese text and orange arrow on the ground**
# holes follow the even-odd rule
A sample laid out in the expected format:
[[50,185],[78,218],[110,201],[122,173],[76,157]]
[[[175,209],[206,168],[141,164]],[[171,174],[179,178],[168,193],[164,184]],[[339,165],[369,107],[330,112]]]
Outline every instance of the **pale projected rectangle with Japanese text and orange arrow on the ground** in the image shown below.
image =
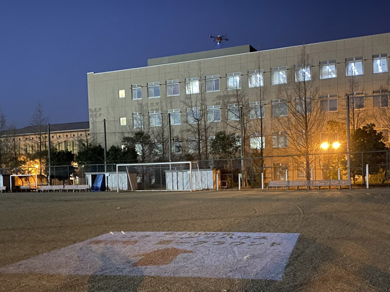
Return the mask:
[[0,273],[281,280],[299,234],[110,232]]

